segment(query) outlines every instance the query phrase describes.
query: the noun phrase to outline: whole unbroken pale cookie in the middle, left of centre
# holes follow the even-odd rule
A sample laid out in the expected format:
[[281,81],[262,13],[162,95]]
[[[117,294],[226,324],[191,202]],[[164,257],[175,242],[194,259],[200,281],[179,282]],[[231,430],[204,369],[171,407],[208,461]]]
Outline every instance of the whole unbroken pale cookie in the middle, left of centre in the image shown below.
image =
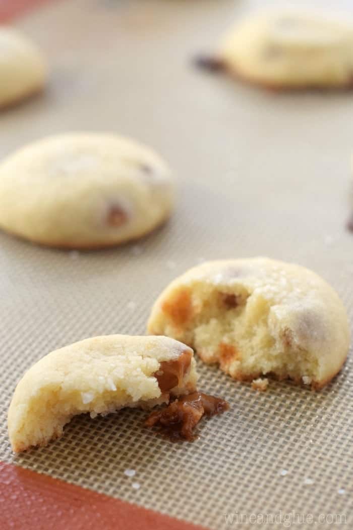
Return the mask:
[[129,241],[161,224],[173,205],[161,158],[113,134],[44,138],[0,164],[0,227],[44,245]]

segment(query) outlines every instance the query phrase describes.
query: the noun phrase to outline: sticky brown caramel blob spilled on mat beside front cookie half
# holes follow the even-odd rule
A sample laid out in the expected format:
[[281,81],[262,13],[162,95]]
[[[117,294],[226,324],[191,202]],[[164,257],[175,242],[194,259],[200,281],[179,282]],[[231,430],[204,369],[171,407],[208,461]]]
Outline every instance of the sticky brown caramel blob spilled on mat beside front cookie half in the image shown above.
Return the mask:
[[215,416],[229,409],[229,404],[221,398],[194,392],[178,398],[161,410],[153,411],[146,427],[160,426],[160,434],[171,441],[194,441],[194,429],[201,418]]

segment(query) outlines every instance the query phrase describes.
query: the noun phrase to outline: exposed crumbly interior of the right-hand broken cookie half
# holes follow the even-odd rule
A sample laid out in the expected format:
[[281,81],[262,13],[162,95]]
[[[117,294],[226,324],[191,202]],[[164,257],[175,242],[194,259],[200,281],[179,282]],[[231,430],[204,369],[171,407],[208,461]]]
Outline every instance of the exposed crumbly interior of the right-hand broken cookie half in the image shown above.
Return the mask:
[[291,329],[271,326],[270,308],[268,299],[243,286],[194,282],[192,289],[182,287],[162,303],[165,334],[239,380],[265,374],[304,384],[317,380],[318,358],[297,345]]

